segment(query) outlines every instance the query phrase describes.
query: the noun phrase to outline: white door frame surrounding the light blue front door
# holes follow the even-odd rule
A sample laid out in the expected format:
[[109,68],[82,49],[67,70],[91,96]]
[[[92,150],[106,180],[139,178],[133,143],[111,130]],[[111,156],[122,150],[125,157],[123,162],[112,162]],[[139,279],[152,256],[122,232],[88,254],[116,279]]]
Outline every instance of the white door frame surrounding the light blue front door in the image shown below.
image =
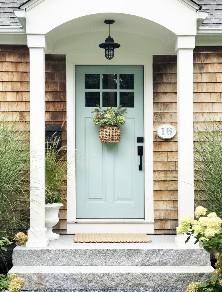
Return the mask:
[[[153,56],[67,55],[67,233],[153,233]],[[114,63],[115,62],[115,63]],[[77,219],[75,177],[75,66],[144,66],[144,219]]]

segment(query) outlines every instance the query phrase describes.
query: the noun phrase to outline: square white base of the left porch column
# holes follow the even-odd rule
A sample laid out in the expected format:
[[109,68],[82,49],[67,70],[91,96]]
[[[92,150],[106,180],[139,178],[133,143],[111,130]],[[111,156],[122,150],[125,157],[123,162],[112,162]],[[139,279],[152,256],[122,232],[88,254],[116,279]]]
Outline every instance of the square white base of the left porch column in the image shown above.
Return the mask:
[[25,247],[46,247],[49,244],[49,238],[47,237],[47,228],[42,230],[28,230],[29,240],[25,244]]

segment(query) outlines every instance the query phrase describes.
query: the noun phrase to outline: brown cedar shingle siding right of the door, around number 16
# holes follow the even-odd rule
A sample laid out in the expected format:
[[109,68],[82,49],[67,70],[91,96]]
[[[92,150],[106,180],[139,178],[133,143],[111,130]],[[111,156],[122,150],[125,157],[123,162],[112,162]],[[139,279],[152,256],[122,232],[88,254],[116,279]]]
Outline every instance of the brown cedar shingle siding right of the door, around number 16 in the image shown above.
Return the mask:
[[[199,126],[204,120],[222,121],[221,92],[222,47],[196,47],[193,51],[193,114]],[[153,56],[155,233],[176,233],[173,229],[178,226],[177,135],[164,141],[156,134],[160,124],[177,128],[176,101],[176,56]]]

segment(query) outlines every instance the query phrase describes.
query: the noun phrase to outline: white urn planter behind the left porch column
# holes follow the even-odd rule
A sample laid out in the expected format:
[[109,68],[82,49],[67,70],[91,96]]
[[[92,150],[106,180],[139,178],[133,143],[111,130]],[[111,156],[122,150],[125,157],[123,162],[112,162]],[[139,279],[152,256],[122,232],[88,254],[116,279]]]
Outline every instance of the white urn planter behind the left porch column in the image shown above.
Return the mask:
[[59,234],[53,232],[53,226],[59,222],[59,209],[62,203],[46,204],[46,227],[49,240],[59,239]]

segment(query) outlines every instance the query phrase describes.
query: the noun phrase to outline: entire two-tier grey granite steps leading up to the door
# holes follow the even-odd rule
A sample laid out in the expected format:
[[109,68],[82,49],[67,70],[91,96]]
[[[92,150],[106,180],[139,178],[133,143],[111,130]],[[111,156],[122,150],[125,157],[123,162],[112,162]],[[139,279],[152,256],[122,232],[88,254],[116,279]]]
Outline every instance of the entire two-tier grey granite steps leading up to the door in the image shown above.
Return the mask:
[[25,278],[24,290],[176,289],[210,278],[209,253],[176,246],[174,235],[149,237],[151,243],[79,244],[61,235],[46,248],[16,246],[8,273]]

